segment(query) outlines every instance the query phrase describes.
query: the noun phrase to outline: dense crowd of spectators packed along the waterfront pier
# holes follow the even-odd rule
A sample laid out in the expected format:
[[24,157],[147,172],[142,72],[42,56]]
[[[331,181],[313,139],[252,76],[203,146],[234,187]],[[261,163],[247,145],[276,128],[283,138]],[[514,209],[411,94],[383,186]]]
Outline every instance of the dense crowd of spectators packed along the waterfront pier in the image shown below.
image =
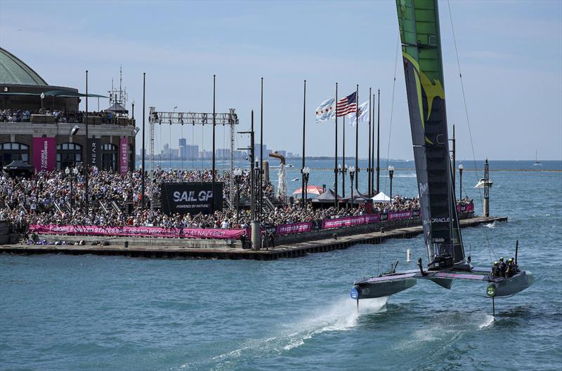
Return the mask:
[[[71,173],[72,174],[72,173]],[[64,171],[36,173],[31,178],[0,177],[0,220],[10,220],[15,229],[25,231],[28,224],[75,224],[106,227],[155,226],[183,228],[233,228],[247,227],[250,212],[247,208],[216,211],[211,215],[164,215],[159,208],[162,182],[211,182],[210,170],[162,170],[157,168],[145,182],[145,208],[141,199],[141,171],[126,174],[101,171],[93,168],[89,173],[89,203],[86,205],[85,177],[66,175]],[[216,174],[216,181],[228,184],[230,174]],[[153,187],[151,187],[153,184]],[[249,172],[238,179],[241,199],[249,199],[251,182]],[[155,201],[150,207],[150,194]],[[263,194],[275,201],[273,184],[263,181]],[[223,187],[223,197],[229,198],[229,187]],[[469,203],[465,198],[462,203]],[[242,203],[241,203],[242,204]],[[362,215],[365,204],[353,208],[302,208],[299,201],[285,203],[277,200],[274,210],[264,213],[262,224],[278,225],[295,222]],[[71,212],[72,209],[72,212]],[[419,209],[418,198],[394,196],[392,203],[376,203],[373,213]]]

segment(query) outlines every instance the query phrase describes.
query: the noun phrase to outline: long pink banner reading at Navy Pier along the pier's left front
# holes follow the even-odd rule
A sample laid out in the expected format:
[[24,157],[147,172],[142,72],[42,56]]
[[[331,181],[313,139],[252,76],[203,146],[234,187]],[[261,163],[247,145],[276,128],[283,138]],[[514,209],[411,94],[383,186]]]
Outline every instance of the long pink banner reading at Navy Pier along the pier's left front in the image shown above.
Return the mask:
[[96,225],[30,224],[30,232],[39,234],[77,234],[81,236],[126,236],[169,238],[238,239],[245,229],[202,229],[161,227],[98,227]]

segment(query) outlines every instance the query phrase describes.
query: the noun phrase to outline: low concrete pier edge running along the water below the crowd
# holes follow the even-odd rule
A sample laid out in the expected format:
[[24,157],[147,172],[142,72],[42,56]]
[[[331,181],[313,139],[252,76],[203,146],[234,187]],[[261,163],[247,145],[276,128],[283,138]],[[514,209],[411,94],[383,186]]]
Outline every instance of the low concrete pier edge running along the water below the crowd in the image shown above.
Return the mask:
[[[507,217],[470,217],[460,221],[461,227],[476,227],[478,224],[492,222],[507,222]],[[77,241],[83,239],[86,245],[0,245],[0,252],[12,254],[67,254],[67,255],[122,255],[127,257],[148,258],[199,258],[199,259],[256,259],[273,260],[283,257],[302,257],[309,253],[342,250],[360,243],[379,244],[389,238],[412,238],[421,234],[421,225],[412,227],[396,227],[355,233],[341,236],[337,230],[330,237],[320,238],[311,236],[306,241],[306,234],[301,234],[301,241],[276,245],[268,250],[246,250],[240,247],[240,242],[212,241],[208,247],[190,247],[190,245],[173,245],[172,241],[162,241],[155,238],[114,238],[112,245],[87,245],[88,241],[95,241],[95,237],[82,236],[50,236],[48,239],[64,239]],[[46,237],[46,236],[44,236]],[[102,238],[98,238],[102,239]],[[152,240],[152,241],[151,241]],[[127,241],[128,247],[125,247]],[[183,240],[185,241],[185,240]],[[205,240],[209,241],[209,240]],[[167,242],[167,243],[163,243]],[[195,246],[196,241],[191,246]]]

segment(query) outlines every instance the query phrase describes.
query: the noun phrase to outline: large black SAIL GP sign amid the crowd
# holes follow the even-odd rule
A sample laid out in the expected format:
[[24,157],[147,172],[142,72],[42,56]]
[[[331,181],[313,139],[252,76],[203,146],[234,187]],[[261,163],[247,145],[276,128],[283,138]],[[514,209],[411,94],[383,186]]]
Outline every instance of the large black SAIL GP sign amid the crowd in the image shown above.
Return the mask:
[[223,210],[223,182],[162,183],[162,211],[166,215],[180,213],[208,215]]

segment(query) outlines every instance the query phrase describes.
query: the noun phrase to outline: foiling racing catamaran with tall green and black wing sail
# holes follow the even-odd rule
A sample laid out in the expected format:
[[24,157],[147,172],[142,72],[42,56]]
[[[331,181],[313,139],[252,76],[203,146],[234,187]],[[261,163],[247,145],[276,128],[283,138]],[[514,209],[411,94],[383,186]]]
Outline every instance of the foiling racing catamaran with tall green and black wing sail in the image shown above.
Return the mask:
[[[509,278],[492,276],[465,256],[452,188],[437,0],[396,0],[396,5],[428,263],[424,269],[420,258],[419,269],[403,272],[396,271],[398,262],[392,264],[385,274],[355,281],[351,298],[359,306],[360,299],[387,297],[419,280],[447,289],[457,279],[484,281],[495,312],[495,297],[525,290],[534,278],[519,269]],[[517,264],[517,248],[515,257]]]

